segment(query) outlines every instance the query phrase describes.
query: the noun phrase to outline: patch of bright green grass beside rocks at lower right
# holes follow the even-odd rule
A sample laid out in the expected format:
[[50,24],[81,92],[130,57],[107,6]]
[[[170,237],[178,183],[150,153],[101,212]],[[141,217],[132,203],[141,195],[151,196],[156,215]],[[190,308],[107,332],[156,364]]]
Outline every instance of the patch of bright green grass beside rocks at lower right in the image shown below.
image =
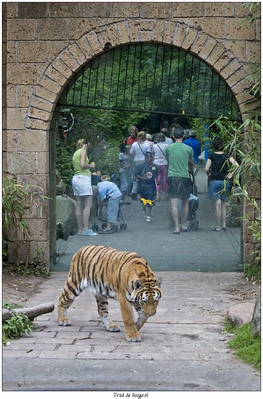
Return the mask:
[[228,344],[229,348],[234,349],[234,354],[245,363],[261,370],[261,337],[252,335],[251,322],[236,327],[227,320],[224,332],[234,335]]

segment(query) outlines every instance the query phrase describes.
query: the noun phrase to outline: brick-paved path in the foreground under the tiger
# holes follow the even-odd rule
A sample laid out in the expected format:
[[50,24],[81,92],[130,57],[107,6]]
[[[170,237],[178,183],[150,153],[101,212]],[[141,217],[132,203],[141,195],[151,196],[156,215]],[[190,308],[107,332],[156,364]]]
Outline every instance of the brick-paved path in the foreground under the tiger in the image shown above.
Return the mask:
[[163,297],[139,343],[126,341],[117,301],[109,310],[122,331],[107,332],[85,290],[69,308],[72,326],[58,326],[66,276],[53,273],[28,304],[53,302],[55,310],[3,347],[3,391],[260,391],[259,373],[233,356],[222,333],[241,273],[156,272]]

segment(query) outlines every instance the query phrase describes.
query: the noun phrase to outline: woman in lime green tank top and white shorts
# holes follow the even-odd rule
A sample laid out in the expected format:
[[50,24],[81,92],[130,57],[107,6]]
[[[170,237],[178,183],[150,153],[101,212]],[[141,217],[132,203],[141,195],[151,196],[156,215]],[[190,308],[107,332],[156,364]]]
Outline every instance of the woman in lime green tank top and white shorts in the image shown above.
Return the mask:
[[72,188],[76,197],[76,219],[79,235],[97,235],[88,228],[90,210],[92,206],[91,169],[95,169],[95,163],[90,164],[87,156],[89,143],[85,139],[77,142],[77,151],[74,153],[72,162],[75,175],[72,178]]

